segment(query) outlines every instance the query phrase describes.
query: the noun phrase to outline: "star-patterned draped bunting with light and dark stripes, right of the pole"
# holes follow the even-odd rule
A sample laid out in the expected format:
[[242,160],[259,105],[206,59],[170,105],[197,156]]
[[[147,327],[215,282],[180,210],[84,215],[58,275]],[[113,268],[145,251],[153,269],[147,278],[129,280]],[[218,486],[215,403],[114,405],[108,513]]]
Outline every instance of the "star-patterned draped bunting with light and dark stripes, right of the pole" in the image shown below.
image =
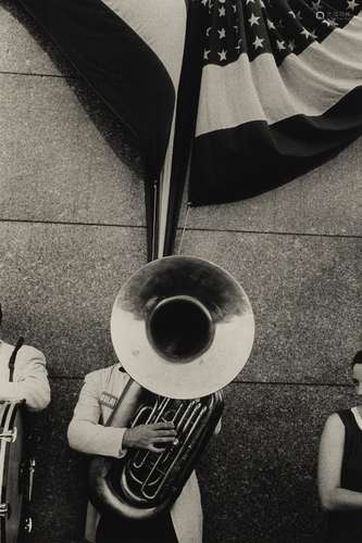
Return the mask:
[[203,43],[195,205],[276,187],[362,134],[361,8],[361,0],[191,2]]

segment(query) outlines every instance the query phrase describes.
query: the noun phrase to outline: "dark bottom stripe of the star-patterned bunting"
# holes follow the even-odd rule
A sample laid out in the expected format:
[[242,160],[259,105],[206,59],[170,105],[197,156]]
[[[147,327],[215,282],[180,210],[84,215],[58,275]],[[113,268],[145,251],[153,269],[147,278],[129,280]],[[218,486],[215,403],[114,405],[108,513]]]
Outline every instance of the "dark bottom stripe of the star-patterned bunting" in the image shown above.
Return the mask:
[[362,86],[319,117],[296,115],[273,126],[258,121],[200,136],[192,153],[191,202],[249,198],[319,166],[362,134],[361,103]]

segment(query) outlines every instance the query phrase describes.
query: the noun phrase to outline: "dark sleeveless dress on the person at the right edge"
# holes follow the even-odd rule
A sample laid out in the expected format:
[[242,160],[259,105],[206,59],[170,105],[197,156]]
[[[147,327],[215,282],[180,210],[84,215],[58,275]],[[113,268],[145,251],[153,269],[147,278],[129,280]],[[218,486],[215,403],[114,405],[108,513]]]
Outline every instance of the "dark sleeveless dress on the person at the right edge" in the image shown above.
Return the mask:
[[[340,485],[362,492],[362,430],[350,409],[338,412],[346,438]],[[362,510],[330,512],[327,516],[325,543],[361,543]]]

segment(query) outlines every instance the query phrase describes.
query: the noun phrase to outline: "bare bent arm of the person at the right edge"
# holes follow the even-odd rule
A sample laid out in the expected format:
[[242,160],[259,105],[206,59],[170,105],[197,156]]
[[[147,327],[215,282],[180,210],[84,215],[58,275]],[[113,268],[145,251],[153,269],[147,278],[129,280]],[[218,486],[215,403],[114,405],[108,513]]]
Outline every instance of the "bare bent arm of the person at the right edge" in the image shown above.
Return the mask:
[[362,492],[340,487],[345,447],[345,426],[337,414],[328,417],[320,443],[317,483],[322,507],[326,510],[362,508]]

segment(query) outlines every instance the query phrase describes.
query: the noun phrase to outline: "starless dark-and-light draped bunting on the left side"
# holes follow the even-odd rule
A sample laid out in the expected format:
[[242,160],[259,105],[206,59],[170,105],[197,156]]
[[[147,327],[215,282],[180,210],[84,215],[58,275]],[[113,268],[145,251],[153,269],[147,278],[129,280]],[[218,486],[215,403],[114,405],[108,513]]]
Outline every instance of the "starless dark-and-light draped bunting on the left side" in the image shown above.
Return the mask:
[[20,0],[20,4],[136,139],[148,179],[159,177],[183,59],[185,1]]

